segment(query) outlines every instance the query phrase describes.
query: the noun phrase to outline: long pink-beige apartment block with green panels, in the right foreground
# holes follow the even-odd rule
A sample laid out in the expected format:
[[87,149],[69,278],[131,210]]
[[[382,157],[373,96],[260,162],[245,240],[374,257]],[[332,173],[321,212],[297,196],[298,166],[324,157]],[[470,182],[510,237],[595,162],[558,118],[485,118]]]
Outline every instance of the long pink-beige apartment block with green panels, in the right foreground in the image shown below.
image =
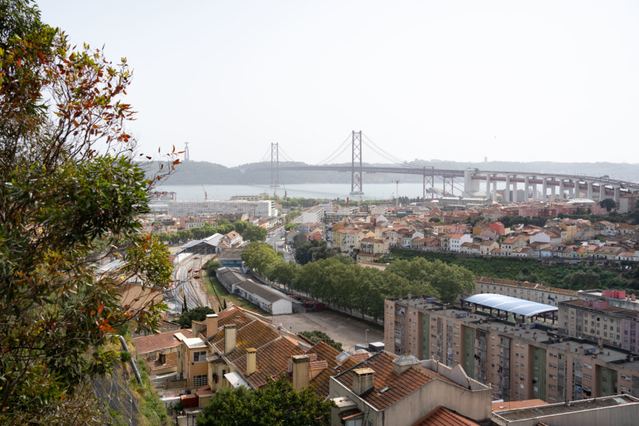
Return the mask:
[[630,351],[563,336],[553,324],[508,322],[429,297],[385,301],[384,344],[393,354],[459,365],[506,401],[639,396],[639,356]]

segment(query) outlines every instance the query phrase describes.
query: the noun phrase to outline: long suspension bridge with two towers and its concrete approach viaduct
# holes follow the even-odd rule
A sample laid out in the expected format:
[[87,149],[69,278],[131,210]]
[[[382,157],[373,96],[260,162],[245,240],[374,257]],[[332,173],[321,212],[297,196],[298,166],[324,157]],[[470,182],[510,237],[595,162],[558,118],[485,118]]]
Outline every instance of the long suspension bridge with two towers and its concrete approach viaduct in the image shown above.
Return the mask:
[[[286,164],[295,163],[295,160],[283,151],[279,143],[271,143],[262,161],[268,163],[269,155],[271,186],[275,188],[280,185],[280,171],[319,170],[350,173],[351,195],[364,194],[364,173],[420,175],[423,199],[435,198],[438,194],[452,196],[457,190],[464,197],[477,197],[481,194],[496,201],[498,182],[500,186],[505,187],[502,192],[502,199],[505,202],[521,202],[531,198],[540,201],[564,199],[564,197],[578,198],[582,191],[589,200],[613,198],[619,202],[621,195],[639,192],[639,183],[610,179],[607,176],[509,172],[476,168],[450,170],[416,165],[385,151],[361,131],[352,131],[342,144],[315,165]],[[345,155],[348,155],[347,160]],[[284,160],[283,164],[280,164],[280,158]],[[435,187],[436,179],[442,182],[442,190]],[[523,191],[518,191],[519,184],[523,184],[519,187]],[[482,193],[481,187],[484,185],[485,191]]]

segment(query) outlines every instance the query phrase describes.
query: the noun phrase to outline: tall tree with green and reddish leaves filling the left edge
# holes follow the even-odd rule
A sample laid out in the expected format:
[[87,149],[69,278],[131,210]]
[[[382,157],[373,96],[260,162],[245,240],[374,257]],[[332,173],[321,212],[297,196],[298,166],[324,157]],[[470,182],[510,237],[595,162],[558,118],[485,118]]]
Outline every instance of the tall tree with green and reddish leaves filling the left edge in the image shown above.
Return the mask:
[[[117,359],[109,333],[154,329],[165,309],[120,302],[129,278],[151,292],[170,283],[165,246],[137,217],[177,162],[168,154],[149,181],[134,161],[130,80],[126,60],[70,48],[31,1],[0,0],[2,425],[104,423],[86,386]],[[121,256],[117,273],[97,275],[95,241]]]

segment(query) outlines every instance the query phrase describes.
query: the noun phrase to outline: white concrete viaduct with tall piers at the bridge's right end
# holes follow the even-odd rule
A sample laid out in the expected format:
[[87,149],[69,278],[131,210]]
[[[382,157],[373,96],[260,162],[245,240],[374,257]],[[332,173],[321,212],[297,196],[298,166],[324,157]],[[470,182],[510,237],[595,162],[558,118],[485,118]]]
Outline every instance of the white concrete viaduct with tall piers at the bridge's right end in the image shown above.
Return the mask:
[[[639,192],[639,185],[633,182],[620,182],[607,177],[493,172],[475,169],[464,172],[464,195],[476,196],[483,186],[482,181],[486,183],[486,198],[493,201],[497,201],[498,198],[498,182],[503,182],[504,190],[501,198],[504,202],[523,202],[530,199],[546,202],[579,198],[583,194],[589,200],[612,198],[618,203],[623,193]],[[518,183],[523,183],[523,196],[518,195]]]

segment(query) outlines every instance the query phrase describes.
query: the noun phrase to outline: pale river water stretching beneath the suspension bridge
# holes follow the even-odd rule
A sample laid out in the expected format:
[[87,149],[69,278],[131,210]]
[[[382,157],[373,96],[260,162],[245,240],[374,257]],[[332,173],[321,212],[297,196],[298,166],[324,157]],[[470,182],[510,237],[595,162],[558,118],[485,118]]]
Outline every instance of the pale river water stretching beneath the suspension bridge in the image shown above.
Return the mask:
[[[162,185],[157,190],[171,191],[178,195],[179,201],[204,200],[204,192],[209,200],[229,200],[234,195],[258,195],[263,192],[273,195],[273,188],[268,185]],[[300,183],[280,185],[277,194],[283,197],[320,198],[335,200],[359,200],[359,195],[350,195],[351,185],[348,183]],[[362,200],[391,200],[395,192],[400,197],[422,197],[421,183],[364,183],[364,195]]]

